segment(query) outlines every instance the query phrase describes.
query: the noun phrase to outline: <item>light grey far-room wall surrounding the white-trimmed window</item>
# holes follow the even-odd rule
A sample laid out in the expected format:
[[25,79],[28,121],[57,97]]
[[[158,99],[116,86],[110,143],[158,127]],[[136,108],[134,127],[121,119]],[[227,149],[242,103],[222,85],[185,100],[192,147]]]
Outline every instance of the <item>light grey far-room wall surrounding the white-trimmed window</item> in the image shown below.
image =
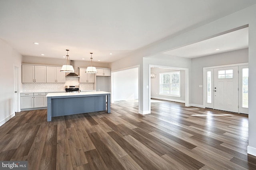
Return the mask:
[[[180,71],[180,97],[159,95],[159,82],[160,82],[159,73],[173,72],[173,71]],[[184,70],[174,70],[174,69],[152,67],[151,72],[156,74],[156,78],[150,79],[151,80],[151,89],[150,89],[151,90],[151,98],[185,103],[185,71]]]

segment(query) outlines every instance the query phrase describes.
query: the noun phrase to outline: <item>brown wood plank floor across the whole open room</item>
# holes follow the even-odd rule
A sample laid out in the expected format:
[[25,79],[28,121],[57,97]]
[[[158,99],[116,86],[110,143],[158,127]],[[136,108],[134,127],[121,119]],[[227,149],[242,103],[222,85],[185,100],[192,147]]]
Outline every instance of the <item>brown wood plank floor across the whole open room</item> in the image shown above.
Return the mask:
[[22,111],[2,125],[0,160],[27,160],[29,170],[256,169],[247,115],[152,100],[148,115],[121,101],[110,114],[46,117]]

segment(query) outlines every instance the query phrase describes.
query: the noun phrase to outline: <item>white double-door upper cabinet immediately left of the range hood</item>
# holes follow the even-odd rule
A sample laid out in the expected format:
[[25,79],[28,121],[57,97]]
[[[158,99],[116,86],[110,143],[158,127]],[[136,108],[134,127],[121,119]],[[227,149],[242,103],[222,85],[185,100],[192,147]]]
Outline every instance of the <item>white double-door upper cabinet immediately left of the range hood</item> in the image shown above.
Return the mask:
[[61,67],[46,67],[46,82],[47,83],[65,83],[66,73],[60,72]]

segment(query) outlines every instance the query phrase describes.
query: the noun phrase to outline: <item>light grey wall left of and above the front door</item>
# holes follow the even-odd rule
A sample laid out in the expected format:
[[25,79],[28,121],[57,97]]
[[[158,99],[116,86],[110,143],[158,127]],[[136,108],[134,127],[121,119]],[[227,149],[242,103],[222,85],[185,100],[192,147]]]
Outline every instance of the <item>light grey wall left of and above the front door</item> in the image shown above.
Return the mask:
[[191,103],[203,105],[203,67],[248,63],[248,49],[241,49],[192,59]]

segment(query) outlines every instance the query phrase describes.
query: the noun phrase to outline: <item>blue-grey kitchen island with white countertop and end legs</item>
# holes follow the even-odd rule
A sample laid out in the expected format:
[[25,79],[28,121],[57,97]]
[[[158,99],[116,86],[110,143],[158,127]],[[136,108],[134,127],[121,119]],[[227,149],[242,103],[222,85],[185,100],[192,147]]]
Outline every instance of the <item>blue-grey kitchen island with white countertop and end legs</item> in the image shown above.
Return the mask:
[[[110,113],[110,92],[48,93],[47,121],[52,117],[104,111]],[[106,107],[107,98],[107,107]]]

